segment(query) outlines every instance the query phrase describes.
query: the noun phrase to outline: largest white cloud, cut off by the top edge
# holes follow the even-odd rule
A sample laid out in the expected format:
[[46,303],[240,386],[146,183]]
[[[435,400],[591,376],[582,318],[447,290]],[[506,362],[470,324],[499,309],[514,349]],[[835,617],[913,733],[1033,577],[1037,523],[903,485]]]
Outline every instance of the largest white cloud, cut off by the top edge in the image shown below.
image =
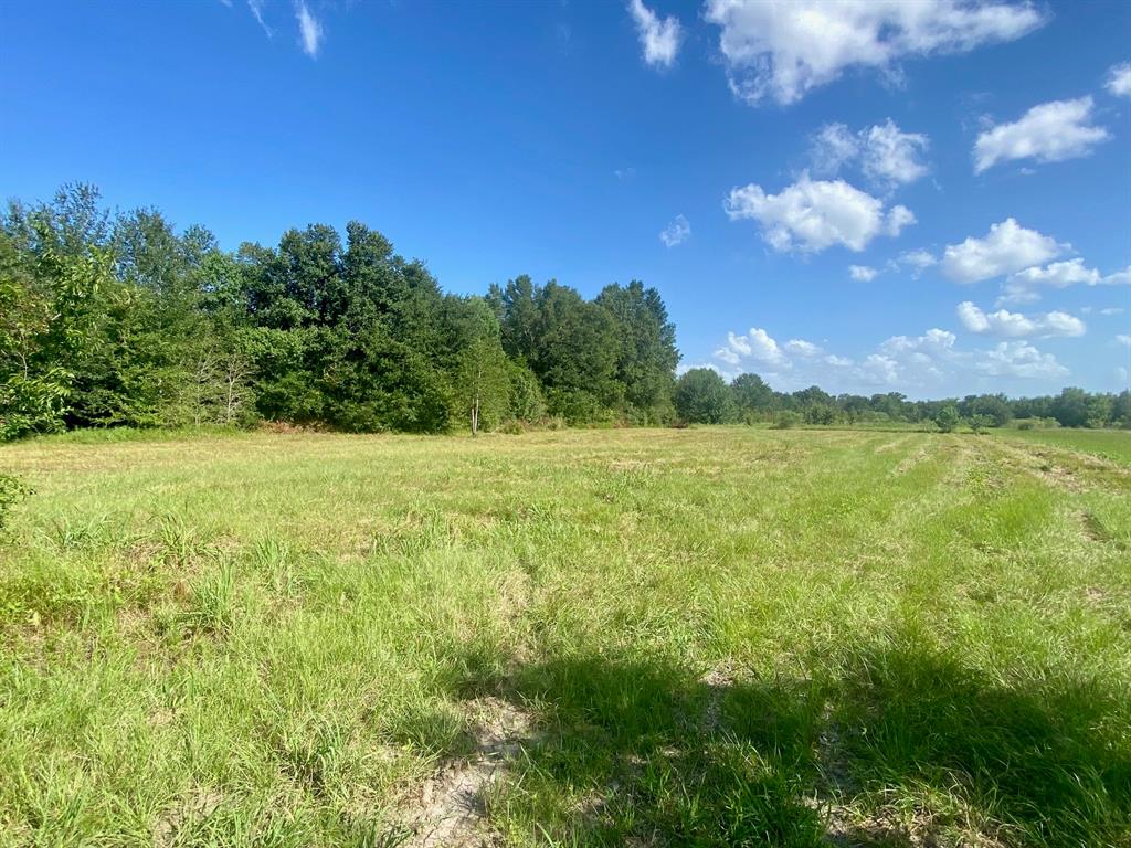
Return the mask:
[[1012,41],[1045,18],[1028,2],[708,0],[731,89],[748,103],[793,103],[851,68],[897,73],[907,57]]

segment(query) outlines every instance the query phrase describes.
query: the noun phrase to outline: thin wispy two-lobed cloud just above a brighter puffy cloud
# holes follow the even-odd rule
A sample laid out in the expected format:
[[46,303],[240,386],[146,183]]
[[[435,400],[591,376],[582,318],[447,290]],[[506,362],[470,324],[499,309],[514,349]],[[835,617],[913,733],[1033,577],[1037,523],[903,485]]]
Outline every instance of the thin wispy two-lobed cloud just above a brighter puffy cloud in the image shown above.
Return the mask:
[[890,118],[857,132],[843,123],[830,123],[813,137],[813,167],[836,175],[845,165],[857,163],[872,183],[895,188],[926,174],[926,165],[920,157],[927,145],[926,136],[904,132]]

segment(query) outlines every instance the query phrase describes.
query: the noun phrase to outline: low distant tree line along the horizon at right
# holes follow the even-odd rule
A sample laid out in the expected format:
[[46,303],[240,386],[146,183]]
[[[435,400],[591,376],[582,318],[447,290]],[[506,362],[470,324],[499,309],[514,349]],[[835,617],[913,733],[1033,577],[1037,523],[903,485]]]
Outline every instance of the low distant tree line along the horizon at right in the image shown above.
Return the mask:
[[675,387],[676,414],[689,423],[776,422],[779,424],[933,423],[953,429],[1003,427],[1017,421],[1064,427],[1131,427],[1131,392],[1119,395],[1067,388],[1059,395],[1008,398],[967,395],[942,400],[908,400],[899,392],[832,396],[815,386],[792,393],[775,391],[757,374],[729,383],[711,369],[692,369]]

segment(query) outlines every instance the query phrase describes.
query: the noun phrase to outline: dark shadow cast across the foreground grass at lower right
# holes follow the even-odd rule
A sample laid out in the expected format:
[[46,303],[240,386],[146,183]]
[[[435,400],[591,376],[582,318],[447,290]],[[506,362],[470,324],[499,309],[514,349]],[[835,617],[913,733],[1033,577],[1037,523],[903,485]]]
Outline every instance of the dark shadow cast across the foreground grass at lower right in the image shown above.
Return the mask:
[[832,681],[586,656],[475,689],[533,712],[491,817],[546,845],[1131,843],[1128,708],[1098,683],[905,647]]

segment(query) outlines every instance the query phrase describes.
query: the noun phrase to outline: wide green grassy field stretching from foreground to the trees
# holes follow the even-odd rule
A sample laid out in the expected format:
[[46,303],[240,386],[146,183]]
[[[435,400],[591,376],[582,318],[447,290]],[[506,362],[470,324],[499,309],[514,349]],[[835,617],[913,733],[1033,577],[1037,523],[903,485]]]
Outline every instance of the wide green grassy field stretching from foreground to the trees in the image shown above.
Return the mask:
[[0,845],[1131,845],[1100,435],[0,448]]

